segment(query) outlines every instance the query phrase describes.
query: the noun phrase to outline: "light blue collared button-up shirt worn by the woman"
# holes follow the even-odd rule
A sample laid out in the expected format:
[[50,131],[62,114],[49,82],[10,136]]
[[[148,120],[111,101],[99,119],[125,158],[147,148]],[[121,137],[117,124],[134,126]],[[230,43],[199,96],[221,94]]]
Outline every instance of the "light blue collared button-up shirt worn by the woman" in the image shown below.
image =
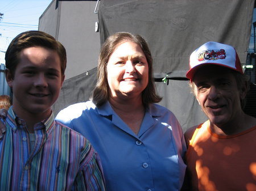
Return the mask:
[[57,121],[84,135],[100,155],[111,191],[171,191],[183,183],[185,142],[176,117],[168,109],[150,104],[138,135],[107,102],[71,105]]

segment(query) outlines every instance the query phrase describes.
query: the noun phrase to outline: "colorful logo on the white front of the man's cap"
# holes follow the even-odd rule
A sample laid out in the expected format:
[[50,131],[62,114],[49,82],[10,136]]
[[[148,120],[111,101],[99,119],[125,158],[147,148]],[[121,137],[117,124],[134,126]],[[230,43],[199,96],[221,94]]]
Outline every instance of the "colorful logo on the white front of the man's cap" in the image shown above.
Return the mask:
[[220,49],[217,51],[204,50],[203,52],[199,53],[197,60],[204,61],[204,60],[218,60],[218,59],[225,59],[225,58],[226,58],[226,52],[224,49]]

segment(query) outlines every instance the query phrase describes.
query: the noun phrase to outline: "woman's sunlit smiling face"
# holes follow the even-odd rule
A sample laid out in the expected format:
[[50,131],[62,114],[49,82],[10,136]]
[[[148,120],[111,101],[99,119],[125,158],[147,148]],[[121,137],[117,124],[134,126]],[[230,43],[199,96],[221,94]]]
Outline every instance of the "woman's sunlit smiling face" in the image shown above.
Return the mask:
[[148,63],[141,47],[125,41],[115,48],[107,65],[110,97],[141,96],[148,83]]

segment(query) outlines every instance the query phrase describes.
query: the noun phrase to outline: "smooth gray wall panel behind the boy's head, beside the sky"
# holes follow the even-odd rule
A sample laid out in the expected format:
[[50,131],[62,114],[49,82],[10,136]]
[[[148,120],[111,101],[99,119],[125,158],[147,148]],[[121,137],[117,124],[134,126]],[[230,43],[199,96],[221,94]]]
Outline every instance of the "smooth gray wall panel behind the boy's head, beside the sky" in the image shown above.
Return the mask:
[[39,30],[47,32],[67,50],[65,79],[75,77],[97,67],[100,53],[100,33],[95,32],[98,15],[97,1],[53,0],[39,18]]

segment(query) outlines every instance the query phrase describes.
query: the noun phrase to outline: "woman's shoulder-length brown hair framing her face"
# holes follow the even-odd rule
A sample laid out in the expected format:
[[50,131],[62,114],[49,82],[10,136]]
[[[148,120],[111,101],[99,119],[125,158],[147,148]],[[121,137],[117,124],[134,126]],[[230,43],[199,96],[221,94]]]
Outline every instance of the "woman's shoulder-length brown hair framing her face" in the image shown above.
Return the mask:
[[105,43],[101,47],[100,56],[98,58],[97,83],[92,95],[92,101],[97,106],[104,104],[109,99],[108,75],[106,70],[109,57],[117,46],[125,41],[131,41],[138,44],[147,58],[148,84],[142,92],[143,104],[148,105],[150,103],[158,103],[162,100],[162,98],[156,94],[155,83],[152,77],[152,56],[146,41],[139,35],[132,35],[128,32],[117,32],[106,39]]

